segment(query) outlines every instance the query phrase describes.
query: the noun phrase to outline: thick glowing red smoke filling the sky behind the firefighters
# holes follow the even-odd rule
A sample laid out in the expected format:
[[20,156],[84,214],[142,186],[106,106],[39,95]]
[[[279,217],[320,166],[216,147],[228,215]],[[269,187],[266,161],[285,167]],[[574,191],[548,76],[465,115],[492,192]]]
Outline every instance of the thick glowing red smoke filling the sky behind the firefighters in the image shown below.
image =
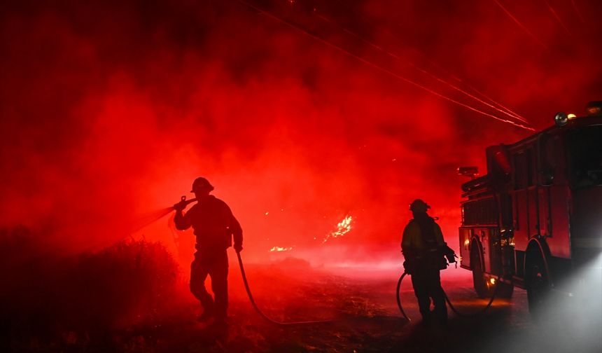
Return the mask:
[[[602,97],[597,1],[499,3],[528,32],[496,1],[251,1],[486,110],[412,65],[453,74],[535,129]],[[485,146],[529,133],[238,1],[20,1],[0,13],[0,223],[67,249],[130,235],[198,175],[255,258],[274,246],[394,258],[419,197],[455,246],[456,167],[484,172]],[[322,244],[347,214],[351,232]],[[136,236],[173,246],[167,223]]]

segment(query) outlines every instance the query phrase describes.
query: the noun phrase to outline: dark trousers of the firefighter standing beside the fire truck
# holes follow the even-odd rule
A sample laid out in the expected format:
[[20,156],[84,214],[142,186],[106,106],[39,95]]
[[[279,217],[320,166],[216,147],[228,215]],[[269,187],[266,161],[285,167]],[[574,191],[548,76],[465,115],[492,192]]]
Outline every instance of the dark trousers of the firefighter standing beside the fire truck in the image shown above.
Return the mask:
[[[422,319],[430,321],[431,317],[441,323],[447,322],[447,306],[445,294],[441,288],[439,269],[435,266],[417,266],[412,271],[412,286],[418,298],[418,306]],[[430,312],[430,300],[433,299],[434,309]]]

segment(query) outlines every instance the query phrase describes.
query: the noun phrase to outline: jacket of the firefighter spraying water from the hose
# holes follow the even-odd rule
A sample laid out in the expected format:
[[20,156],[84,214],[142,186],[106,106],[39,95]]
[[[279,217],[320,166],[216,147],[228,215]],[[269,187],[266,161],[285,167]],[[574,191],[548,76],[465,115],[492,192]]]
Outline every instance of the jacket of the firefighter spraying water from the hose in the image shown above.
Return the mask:
[[193,227],[197,237],[197,250],[223,250],[234,244],[242,246],[242,229],[230,207],[209,195],[190,207],[186,214],[176,212],[174,218],[178,230]]

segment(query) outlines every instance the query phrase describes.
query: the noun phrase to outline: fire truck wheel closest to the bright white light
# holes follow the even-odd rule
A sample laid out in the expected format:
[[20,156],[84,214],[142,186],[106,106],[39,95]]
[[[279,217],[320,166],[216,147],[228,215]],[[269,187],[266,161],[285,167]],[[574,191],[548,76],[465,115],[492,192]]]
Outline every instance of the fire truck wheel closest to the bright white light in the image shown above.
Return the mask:
[[545,263],[539,251],[528,254],[525,270],[528,310],[531,317],[537,320],[550,289]]

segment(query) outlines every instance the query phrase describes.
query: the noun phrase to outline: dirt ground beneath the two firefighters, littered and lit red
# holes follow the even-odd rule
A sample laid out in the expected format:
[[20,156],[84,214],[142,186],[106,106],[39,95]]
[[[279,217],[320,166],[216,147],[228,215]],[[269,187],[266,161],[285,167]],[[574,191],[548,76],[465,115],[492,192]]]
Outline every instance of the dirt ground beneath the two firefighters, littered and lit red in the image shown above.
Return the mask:
[[[472,291],[470,272],[448,269],[442,283],[458,310],[476,313],[487,300]],[[458,317],[449,326],[423,326],[409,280],[402,302],[412,321],[395,303],[395,270],[316,271],[282,266],[249,265],[255,299],[277,321],[333,319],[321,324],[277,326],[262,319],[249,303],[239,271],[230,271],[230,319],[227,328],[199,324],[199,308],[187,309],[153,329],[128,333],[128,349],[153,352],[598,352],[597,338],[554,333],[568,322],[535,325],[526,292],[496,300],[486,314]],[[291,275],[294,274],[294,275]],[[257,285],[258,284],[258,285]],[[599,338],[599,337],[598,337]],[[575,346],[577,345],[577,346]],[[577,350],[573,348],[579,347]]]

